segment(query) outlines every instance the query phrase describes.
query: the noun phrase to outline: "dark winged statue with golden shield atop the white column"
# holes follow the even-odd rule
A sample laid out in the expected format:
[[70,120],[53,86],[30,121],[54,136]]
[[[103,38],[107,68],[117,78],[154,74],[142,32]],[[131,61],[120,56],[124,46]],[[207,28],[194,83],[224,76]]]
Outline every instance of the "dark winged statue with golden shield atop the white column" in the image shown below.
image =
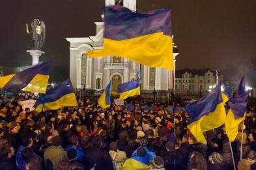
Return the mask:
[[42,46],[46,44],[46,25],[44,21],[40,21],[35,18],[31,23],[31,31],[29,31],[29,26],[27,26],[27,34],[31,34],[34,43],[33,49],[41,49]]

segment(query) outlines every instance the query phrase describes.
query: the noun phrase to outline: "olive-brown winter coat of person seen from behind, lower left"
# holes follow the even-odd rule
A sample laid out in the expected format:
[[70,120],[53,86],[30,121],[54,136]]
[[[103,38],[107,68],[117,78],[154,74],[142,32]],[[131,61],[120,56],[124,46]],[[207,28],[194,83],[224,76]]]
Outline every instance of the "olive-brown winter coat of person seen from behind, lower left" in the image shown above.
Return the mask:
[[66,157],[66,151],[61,146],[50,146],[44,152],[44,163],[46,164],[46,160],[49,159],[55,169],[64,157]]

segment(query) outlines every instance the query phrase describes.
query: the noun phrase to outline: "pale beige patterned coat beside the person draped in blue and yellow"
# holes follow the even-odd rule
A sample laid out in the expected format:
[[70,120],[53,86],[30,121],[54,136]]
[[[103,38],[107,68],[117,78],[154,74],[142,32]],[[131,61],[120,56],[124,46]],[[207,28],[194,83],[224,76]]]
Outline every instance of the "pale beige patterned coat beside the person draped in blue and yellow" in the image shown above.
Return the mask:
[[126,161],[126,153],[124,151],[109,151],[109,155],[111,157],[111,160],[113,162],[113,166],[115,170],[121,169],[122,165]]

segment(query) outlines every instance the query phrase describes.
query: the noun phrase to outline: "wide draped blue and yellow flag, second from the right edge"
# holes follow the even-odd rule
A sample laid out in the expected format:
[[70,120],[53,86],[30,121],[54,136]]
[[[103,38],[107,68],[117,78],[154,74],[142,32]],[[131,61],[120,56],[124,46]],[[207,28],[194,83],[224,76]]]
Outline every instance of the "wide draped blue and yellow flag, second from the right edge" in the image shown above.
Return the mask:
[[227,102],[225,94],[221,93],[220,84],[195,103],[185,107],[190,115],[188,128],[198,142],[206,143],[203,132],[220,127],[226,121],[224,104]]

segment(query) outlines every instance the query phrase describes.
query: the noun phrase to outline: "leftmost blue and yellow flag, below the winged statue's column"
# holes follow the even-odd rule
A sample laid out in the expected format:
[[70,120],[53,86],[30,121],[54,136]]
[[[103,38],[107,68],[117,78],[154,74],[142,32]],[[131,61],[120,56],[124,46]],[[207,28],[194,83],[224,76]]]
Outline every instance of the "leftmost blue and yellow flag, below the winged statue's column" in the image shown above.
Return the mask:
[[19,73],[0,77],[0,88],[10,91],[46,93],[51,61],[31,66]]

